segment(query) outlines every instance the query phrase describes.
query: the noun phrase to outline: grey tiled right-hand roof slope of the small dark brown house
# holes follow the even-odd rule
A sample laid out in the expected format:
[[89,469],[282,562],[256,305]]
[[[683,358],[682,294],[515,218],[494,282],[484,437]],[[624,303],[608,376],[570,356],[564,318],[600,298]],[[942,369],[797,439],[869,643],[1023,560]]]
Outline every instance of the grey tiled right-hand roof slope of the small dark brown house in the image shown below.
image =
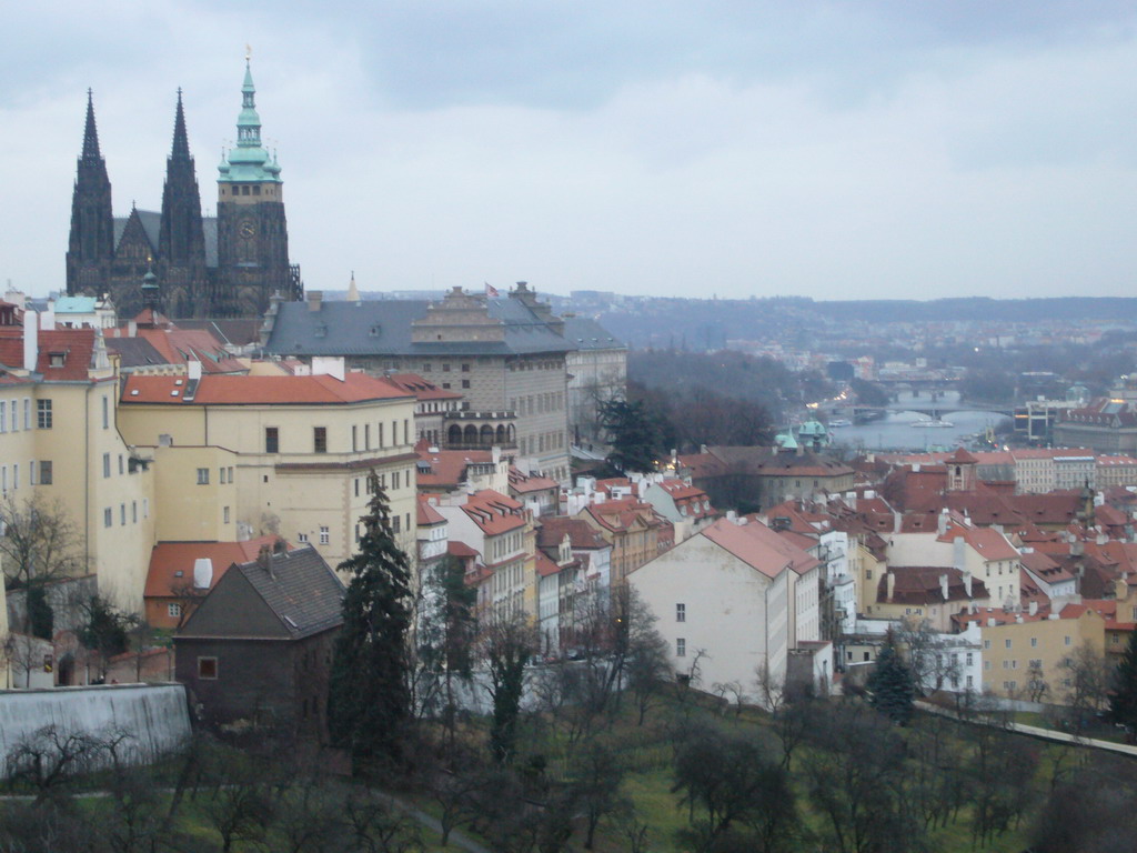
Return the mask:
[[271,557],[272,571],[259,562],[234,565],[281,620],[292,639],[335,628],[343,622],[343,583],[310,545]]

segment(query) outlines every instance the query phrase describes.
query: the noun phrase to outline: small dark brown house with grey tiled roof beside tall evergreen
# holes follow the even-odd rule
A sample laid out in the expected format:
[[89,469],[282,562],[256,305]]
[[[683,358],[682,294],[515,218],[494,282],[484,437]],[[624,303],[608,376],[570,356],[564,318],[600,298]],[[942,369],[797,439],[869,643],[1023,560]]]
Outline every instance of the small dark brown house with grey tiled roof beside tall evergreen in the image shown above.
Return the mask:
[[177,680],[202,721],[326,742],[343,594],[310,545],[233,564],[174,637]]

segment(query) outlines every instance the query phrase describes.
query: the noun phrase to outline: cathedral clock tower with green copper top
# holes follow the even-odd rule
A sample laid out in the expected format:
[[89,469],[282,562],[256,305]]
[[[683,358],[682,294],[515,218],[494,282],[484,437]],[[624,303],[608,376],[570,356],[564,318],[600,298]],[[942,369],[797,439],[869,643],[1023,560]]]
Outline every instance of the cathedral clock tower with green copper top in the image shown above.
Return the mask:
[[211,305],[198,308],[206,316],[262,315],[275,291],[300,298],[288,260],[281,168],[260,143],[256,91],[246,57],[236,148],[217,167],[217,276]]

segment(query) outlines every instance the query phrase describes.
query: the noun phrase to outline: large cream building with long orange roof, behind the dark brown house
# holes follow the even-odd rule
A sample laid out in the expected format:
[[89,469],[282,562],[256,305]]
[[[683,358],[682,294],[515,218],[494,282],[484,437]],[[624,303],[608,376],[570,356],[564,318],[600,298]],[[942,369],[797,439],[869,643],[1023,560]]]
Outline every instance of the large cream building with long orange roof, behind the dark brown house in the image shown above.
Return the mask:
[[[367,474],[415,552],[415,398],[342,362],[314,375],[132,375],[123,434],[155,458],[159,538],[310,543],[332,566],[355,552]],[[326,372],[319,372],[326,370]]]

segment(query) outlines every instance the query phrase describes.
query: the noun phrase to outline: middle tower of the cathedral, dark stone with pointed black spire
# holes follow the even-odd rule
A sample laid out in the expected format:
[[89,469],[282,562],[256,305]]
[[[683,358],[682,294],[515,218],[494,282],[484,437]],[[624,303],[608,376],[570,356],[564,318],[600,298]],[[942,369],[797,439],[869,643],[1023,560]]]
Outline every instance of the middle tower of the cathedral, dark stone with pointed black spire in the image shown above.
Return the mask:
[[166,184],[161,191],[158,258],[166,314],[190,317],[205,310],[208,306],[206,238],[181,89],[174,114],[174,146],[166,158]]

